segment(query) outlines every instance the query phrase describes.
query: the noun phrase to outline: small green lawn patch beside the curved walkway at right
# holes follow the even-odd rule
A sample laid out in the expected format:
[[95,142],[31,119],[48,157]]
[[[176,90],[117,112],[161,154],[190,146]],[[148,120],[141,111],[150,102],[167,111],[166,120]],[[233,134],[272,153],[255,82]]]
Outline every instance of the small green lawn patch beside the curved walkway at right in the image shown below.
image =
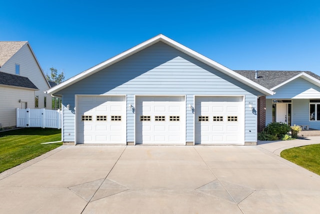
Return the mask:
[[283,150],[281,157],[320,175],[320,144]]

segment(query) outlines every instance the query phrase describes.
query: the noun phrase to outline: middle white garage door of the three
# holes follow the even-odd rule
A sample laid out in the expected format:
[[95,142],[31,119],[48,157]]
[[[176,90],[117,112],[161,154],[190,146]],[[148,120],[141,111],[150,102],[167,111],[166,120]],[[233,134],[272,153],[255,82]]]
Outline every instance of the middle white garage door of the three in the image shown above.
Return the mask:
[[184,96],[136,97],[136,144],[185,144]]

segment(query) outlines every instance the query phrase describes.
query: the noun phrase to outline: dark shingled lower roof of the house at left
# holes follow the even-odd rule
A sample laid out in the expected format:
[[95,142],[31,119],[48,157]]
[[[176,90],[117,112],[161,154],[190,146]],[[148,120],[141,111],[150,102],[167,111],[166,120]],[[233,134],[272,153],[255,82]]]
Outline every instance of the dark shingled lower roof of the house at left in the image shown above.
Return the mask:
[[38,89],[27,77],[0,72],[0,85]]

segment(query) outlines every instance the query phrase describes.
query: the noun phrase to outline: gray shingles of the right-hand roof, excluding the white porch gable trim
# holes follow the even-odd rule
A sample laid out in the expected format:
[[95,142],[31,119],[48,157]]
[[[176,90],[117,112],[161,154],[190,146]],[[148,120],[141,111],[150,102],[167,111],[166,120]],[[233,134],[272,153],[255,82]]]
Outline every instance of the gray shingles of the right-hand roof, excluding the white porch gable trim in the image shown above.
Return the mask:
[[253,70],[233,70],[234,72],[252,80],[253,82],[271,89],[274,86],[277,86],[290,78],[304,72],[311,77],[314,77],[317,80],[320,80],[320,77],[310,71],[257,71],[258,78],[255,79],[255,71]]

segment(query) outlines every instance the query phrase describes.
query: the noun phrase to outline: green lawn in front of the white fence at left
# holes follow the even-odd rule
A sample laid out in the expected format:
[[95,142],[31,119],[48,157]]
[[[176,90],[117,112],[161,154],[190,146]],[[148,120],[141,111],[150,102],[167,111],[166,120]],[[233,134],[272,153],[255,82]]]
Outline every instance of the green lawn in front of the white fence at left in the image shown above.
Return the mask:
[[61,129],[23,128],[0,132],[0,172],[35,158],[60,145]]

